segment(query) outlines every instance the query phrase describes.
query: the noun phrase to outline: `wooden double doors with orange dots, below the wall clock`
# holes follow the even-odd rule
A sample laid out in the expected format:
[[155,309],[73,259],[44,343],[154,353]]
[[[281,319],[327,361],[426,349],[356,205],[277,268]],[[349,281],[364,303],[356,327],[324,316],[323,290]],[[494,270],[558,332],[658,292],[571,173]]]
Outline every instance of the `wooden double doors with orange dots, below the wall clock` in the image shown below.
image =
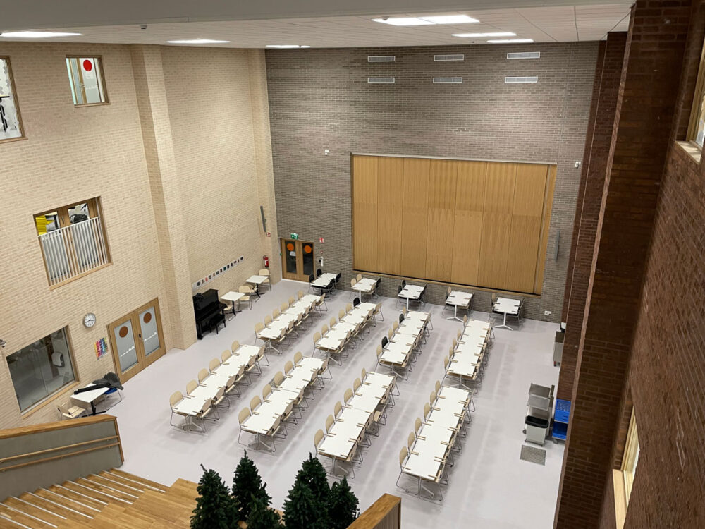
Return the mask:
[[122,382],[166,352],[159,300],[152,300],[108,326],[113,360]]

